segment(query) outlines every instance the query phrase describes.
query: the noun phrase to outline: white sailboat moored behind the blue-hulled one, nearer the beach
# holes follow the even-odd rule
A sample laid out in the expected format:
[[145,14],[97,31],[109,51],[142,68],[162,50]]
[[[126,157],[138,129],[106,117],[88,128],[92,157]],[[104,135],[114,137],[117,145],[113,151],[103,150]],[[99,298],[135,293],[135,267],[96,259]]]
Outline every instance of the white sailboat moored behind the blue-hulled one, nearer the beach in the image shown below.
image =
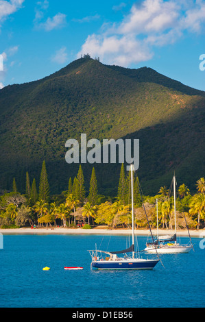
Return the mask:
[[[145,251],[147,253],[155,253],[156,249],[158,253],[189,253],[193,248],[192,243],[182,245],[177,243],[176,240],[176,177],[173,175],[173,202],[174,202],[174,226],[175,232],[173,235],[158,235],[158,200],[156,200],[156,212],[157,212],[157,238],[154,243],[147,243]],[[174,243],[173,243],[174,242]]]

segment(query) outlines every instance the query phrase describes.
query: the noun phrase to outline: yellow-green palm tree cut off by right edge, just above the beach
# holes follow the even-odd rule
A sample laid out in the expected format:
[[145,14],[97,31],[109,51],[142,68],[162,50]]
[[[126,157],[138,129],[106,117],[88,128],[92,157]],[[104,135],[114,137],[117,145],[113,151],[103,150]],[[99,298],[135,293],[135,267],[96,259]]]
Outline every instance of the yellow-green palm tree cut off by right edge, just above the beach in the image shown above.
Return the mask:
[[205,194],[197,193],[191,199],[191,203],[189,204],[190,209],[189,213],[192,215],[197,214],[197,230],[200,228],[200,219],[205,218]]

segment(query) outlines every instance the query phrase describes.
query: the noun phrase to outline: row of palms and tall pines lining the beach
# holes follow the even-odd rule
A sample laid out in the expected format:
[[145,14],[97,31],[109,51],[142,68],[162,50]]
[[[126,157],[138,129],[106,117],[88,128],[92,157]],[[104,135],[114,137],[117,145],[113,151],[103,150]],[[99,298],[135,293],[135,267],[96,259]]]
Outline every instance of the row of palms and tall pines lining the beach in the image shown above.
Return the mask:
[[[178,188],[177,212],[178,227],[204,227],[205,219],[205,180],[197,180],[197,193],[191,195],[189,188],[182,184]],[[18,193],[16,181],[13,181],[13,191],[0,197],[0,225],[63,225],[76,226],[83,221],[90,225],[108,225],[112,228],[130,227],[131,198],[130,198],[130,171],[125,174],[124,165],[121,166],[117,197],[114,200],[98,194],[95,169],[91,174],[89,193],[86,195],[84,174],[80,165],[73,182],[69,178],[68,190],[61,195],[50,196],[49,181],[45,161],[40,173],[40,184],[37,192],[36,180],[32,186],[29,174],[25,176],[25,195]],[[147,219],[142,207],[140,185],[138,177],[134,178],[134,212],[137,227],[147,227]],[[160,187],[154,197],[143,197],[144,206],[149,217],[149,223],[156,227],[156,198],[158,199],[158,219],[162,228],[173,228],[173,197],[166,186]],[[186,222],[184,219],[186,218]]]

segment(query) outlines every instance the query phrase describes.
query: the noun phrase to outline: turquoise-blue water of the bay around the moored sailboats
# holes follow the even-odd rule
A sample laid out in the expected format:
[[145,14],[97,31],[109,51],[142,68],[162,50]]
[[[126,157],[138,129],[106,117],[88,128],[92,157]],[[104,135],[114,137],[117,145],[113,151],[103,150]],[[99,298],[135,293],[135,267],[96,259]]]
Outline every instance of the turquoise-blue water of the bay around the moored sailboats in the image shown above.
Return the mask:
[[[138,247],[147,238],[138,237]],[[125,236],[5,235],[0,249],[1,308],[184,308],[205,305],[205,249],[161,255],[153,271],[91,271],[87,249],[114,251]],[[188,238],[181,238],[188,243]],[[150,258],[152,255],[147,255]],[[43,271],[43,267],[51,267]],[[65,271],[81,266],[82,271]]]

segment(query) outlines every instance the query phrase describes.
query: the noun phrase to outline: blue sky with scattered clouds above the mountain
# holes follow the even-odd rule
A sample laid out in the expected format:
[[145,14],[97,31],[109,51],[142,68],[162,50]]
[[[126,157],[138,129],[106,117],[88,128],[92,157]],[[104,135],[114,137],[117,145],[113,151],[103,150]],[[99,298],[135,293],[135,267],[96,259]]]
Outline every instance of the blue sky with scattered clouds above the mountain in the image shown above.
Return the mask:
[[0,89],[86,53],[205,90],[205,0],[0,0]]

